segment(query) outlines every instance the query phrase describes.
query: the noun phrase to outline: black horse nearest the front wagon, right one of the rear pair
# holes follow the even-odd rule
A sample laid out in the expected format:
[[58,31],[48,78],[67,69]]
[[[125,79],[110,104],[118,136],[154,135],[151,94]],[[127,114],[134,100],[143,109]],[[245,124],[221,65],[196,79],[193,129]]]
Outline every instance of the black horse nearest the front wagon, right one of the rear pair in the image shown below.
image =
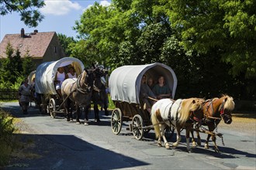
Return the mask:
[[[94,74],[94,82],[93,82],[93,90],[92,90],[92,103],[93,103],[93,109],[95,113],[95,122],[100,122],[99,119],[99,108],[98,105],[101,107],[104,107],[105,115],[109,115],[108,112],[108,96],[106,93],[106,85],[105,85],[105,79],[104,76],[106,76],[107,71],[96,69]],[[102,82],[103,81],[103,82]],[[85,123],[88,123],[88,112],[89,107],[85,108]]]

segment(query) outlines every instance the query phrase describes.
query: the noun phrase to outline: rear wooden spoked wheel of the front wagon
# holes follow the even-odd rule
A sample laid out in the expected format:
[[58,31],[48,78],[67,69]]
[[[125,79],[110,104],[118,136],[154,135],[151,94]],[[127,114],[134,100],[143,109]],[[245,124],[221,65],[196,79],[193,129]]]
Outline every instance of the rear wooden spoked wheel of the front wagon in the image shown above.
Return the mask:
[[111,128],[114,134],[119,134],[122,128],[122,111],[116,108],[111,115]]

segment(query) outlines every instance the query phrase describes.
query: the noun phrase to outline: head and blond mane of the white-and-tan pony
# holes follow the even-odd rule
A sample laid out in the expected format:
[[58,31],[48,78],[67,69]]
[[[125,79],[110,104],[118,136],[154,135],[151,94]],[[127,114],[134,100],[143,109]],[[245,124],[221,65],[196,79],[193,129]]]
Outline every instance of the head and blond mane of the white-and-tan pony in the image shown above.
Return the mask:
[[189,98],[182,100],[180,121],[185,123],[185,121],[190,119],[195,124],[201,124],[203,117],[203,102],[204,100],[201,98]]

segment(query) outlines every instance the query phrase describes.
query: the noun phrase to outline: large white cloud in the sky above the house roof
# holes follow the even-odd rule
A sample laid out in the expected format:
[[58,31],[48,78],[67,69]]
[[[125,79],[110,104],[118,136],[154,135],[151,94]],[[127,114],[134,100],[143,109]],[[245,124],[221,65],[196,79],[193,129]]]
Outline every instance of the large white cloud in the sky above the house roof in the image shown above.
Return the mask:
[[69,0],[45,0],[44,3],[45,6],[40,8],[43,14],[66,15],[71,10],[81,9],[81,5]]

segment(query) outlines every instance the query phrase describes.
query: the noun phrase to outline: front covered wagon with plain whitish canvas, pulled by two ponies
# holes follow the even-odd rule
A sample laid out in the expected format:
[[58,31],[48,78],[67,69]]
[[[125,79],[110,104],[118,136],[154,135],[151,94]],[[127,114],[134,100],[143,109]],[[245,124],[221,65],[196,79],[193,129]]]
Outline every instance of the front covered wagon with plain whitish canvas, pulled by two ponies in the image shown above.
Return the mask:
[[[144,110],[140,99],[140,83],[144,74],[157,82],[159,76],[164,76],[166,84],[171,90],[171,97],[175,97],[177,77],[170,66],[162,63],[146,65],[120,66],[109,76],[110,97],[116,108],[112,111],[111,127],[114,134],[119,134],[123,121],[132,121],[129,130],[140,140],[144,132],[153,128],[150,113]],[[173,130],[171,130],[171,133]]]

